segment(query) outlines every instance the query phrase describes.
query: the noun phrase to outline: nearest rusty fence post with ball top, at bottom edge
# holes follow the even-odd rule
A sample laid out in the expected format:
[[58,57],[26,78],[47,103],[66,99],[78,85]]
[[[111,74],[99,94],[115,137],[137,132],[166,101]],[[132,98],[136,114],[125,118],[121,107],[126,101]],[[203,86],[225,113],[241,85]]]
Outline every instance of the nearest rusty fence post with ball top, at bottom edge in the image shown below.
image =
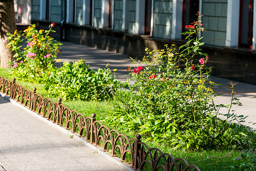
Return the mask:
[[134,152],[133,152],[133,162],[132,162],[132,168],[137,170],[140,166],[140,149],[141,149],[141,135],[136,135],[136,141],[134,143]]

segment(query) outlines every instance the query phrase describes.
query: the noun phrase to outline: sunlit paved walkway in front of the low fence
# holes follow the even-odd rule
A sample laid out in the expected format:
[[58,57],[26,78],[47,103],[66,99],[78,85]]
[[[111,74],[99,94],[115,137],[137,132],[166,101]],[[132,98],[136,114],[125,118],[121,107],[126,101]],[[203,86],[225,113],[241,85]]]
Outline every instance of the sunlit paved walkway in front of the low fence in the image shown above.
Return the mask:
[[0,170],[124,170],[24,108],[0,95]]

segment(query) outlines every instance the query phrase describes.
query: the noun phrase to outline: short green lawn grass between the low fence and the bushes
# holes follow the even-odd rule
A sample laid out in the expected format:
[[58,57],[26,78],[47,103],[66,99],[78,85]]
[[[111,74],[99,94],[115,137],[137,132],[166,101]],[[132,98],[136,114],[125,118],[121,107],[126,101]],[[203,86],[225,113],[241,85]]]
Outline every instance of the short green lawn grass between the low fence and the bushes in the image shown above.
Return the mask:
[[[0,68],[0,75],[13,80],[8,74],[9,70]],[[28,83],[22,82],[21,80],[16,80],[21,86],[28,88],[30,91],[32,88],[36,87],[36,92],[42,95],[43,97],[48,97],[54,101],[57,101],[58,97],[53,97],[49,95],[48,92],[43,88],[43,84]],[[104,124],[104,119],[107,115],[111,115],[112,102],[111,101],[62,101],[62,103],[69,107],[71,110],[76,110],[79,113],[83,113],[86,117],[91,116],[91,113],[96,113],[96,120],[102,121]],[[111,127],[109,127],[111,128]],[[131,132],[128,132],[124,129],[117,129],[120,133],[124,133],[128,136],[129,139],[135,138],[136,135],[132,135]],[[143,141],[143,139],[141,139]],[[181,151],[181,150],[172,150],[168,145],[156,144],[154,142],[147,142],[150,148],[156,147],[160,148],[162,152],[171,154],[174,158],[184,158],[189,164],[196,165],[201,170],[230,170],[230,165],[235,165],[239,161],[233,160],[233,158],[238,157],[237,151],[233,150],[205,150],[205,151]],[[231,152],[231,153],[230,153]],[[230,154],[229,154],[230,153]],[[229,154],[229,155],[227,155]],[[224,157],[226,156],[226,157]],[[194,162],[193,162],[194,161]]]

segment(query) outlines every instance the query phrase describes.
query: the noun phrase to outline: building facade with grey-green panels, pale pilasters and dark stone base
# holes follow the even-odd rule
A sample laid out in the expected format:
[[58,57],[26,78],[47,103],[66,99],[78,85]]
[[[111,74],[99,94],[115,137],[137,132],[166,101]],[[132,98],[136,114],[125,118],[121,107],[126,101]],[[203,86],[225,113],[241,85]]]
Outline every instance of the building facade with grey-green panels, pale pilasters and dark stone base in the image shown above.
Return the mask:
[[253,0],[31,0],[31,20],[55,22],[60,40],[140,59],[145,47],[183,44],[181,32],[201,11],[213,74],[256,84],[254,9]]

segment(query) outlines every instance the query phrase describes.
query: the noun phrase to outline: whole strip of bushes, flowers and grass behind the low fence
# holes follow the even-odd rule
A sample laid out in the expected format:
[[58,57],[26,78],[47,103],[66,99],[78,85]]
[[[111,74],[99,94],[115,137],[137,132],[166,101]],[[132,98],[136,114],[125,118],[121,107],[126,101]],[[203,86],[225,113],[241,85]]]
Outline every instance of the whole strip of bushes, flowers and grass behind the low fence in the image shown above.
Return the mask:
[[[16,32],[10,35],[12,39],[8,46],[17,52],[9,80],[13,77],[21,79],[22,86],[36,87],[39,94],[54,101],[63,97],[62,103],[67,107],[86,116],[96,113],[97,120],[129,138],[141,133],[149,146],[160,148],[175,158],[185,158],[201,170],[253,170],[255,153],[250,149],[255,149],[255,135],[245,126],[230,122],[238,120],[242,123],[245,119],[231,110],[232,105],[240,105],[234,96],[234,84],[230,85],[230,105],[213,103],[216,93],[212,86],[215,83],[209,82],[211,68],[207,67],[211,59],[201,52],[200,47],[204,43],[202,38],[198,38],[200,31],[204,31],[200,17],[198,13],[198,21],[186,26],[188,30],[184,34],[188,42],[178,49],[180,52],[174,45],[166,45],[165,50],[146,48],[148,56],[140,62],[141,65],[128,68],[135,84],[125,83],[123,87],[107,66],[93,71],[80,60],[73,64],[64,62],[60,68],[54,67],[55,55],[59,52],[56,48],[56,54],[44,52],[34,56],[34,50],[40,49],[40,46],[35,46],[41,43],[38,36],[31,36],[25,51],[21,51],[18,43],[21,36],[18,37]],[[35,35],[43,32],[36,32],[34,26],[25,32],[30,30]],[[26,36],[29,35],[27,32]],[[48,38],[46,35],[43,37]],[[35,60],[39,56],[40,60],[51,59],[47,62],[49,65],[44,67],[44,62]],[[37,66],[36,62],[44,69],[31,67]],[[0,75],[5,76],[6,71],[1,69]],[[30,75],[34,71],[39,72]],[[220,107],[227,108],[227,113],[222,114],[229,120],[218,119]]]

